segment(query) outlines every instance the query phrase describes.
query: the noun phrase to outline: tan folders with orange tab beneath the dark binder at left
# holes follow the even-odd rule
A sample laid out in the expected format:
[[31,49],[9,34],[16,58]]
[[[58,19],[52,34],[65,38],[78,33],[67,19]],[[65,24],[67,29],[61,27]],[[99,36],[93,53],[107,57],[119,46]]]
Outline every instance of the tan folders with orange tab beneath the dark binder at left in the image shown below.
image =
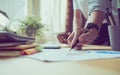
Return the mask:
[[31,55],[40,52],[40,50],[37,50],[36,47],[38,47],[38,45],[34,43],[29,45],[0,47],[0,57]]

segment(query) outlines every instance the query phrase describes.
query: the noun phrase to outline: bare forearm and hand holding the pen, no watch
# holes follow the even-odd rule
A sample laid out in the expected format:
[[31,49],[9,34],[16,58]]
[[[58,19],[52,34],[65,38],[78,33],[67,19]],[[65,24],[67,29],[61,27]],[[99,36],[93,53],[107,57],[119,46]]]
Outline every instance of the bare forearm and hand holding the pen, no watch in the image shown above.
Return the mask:
[[[67,40],[67,43],[70,46],[73,46],[76,43],[76,41],[78,40],[79,35],[83,31],[85,21],[86,20],[83,17],[82,12],[80,11],[80,9],[75,9],[74,10],[74,20],[73,20],[74,31],[68,37],[68,40]],[[77,46],[75,46],[75,49],[81,49],[80,45],[77,44]]]

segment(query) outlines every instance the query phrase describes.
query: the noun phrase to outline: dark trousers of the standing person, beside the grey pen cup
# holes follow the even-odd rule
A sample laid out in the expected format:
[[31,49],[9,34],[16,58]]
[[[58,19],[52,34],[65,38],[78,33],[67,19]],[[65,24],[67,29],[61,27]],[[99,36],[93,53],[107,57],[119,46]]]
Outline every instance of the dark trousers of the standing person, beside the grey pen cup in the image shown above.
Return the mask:
[[104,23],[101,26],[98,37],[91,43],[92,45],[105,45],[110,46],[108,23]]

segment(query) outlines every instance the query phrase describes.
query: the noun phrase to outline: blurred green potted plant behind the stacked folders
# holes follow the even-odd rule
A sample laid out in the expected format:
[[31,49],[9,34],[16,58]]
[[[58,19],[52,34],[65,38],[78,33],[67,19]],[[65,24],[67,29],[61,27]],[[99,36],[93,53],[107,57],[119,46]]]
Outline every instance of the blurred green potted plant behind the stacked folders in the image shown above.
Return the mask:
[[35,37],[42,33],[44,25],[41,19],[35,16],[27,16],[24,20],[20,20],[19,32],[27,36]]

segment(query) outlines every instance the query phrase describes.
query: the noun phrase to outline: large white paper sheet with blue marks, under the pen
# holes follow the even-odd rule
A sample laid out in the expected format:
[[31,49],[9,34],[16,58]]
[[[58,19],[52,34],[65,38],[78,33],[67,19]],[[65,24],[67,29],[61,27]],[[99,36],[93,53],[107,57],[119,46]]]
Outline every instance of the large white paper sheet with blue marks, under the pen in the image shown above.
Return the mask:
[[26,56],[40,61],[80,61],[93,59],[106,59],[120,57],[119,51],[107,50],[87,50],[87,51],[67,51],[67,50],[44,50],[43,52]]

